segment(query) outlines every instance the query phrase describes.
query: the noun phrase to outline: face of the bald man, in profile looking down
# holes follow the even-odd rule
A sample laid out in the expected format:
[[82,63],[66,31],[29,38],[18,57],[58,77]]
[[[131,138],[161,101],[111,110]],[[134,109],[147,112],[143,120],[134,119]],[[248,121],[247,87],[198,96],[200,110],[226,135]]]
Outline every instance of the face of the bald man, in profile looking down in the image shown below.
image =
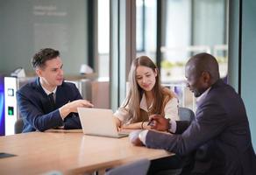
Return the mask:
[[203,73],[196,72],[195,67],[186,66],[185,76],[187,78],[187,87],[195,97],[202,95],[203,92],[209,88],[208,84],[204,81]]

